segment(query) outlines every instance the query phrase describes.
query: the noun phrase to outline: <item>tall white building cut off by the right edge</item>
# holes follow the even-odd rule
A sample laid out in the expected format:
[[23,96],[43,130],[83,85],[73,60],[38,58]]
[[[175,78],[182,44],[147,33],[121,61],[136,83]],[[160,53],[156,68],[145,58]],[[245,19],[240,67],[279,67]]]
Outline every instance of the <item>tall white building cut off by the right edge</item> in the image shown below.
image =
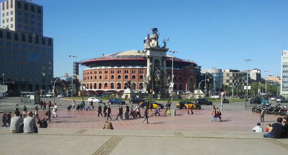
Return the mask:
[[283,50],[281,55],[281,82],[280,94],[288,95],[288,50]]

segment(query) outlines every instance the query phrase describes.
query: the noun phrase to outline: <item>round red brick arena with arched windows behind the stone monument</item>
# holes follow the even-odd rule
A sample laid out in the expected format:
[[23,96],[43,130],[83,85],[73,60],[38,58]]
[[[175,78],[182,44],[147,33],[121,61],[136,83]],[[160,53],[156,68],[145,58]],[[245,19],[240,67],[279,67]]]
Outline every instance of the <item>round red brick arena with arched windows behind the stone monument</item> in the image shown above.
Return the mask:
[[[166,60],[165,83],[169,84],[172,77],[172,56],[166,55],[163,60]],[[160,63],[163,63],[163,60]],[[129,80],[131,84],[136,84],[135,90],[143,91],[145,75],[147,74],[145,51],[133,50],[112,53],[98,58],[82,60],[81,64],[89,67],[83,70],[83,84],[87,91],[97,93],[125,90]],[[174,57],[173,72],[174,91],[185,92],[188,91],[188,88],[191,92],[194,91],[197,76],[196,62]]]

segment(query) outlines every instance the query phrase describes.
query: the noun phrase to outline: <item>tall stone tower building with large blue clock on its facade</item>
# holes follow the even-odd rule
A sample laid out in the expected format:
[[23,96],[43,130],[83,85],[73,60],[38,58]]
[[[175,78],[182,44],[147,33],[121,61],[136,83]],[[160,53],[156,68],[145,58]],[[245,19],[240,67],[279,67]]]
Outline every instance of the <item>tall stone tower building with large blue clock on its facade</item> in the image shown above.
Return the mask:
[[0,3],[0,81],[8,92],[48,92],[53,79],[53,38],[43,36],[43,6],[28,0]]

